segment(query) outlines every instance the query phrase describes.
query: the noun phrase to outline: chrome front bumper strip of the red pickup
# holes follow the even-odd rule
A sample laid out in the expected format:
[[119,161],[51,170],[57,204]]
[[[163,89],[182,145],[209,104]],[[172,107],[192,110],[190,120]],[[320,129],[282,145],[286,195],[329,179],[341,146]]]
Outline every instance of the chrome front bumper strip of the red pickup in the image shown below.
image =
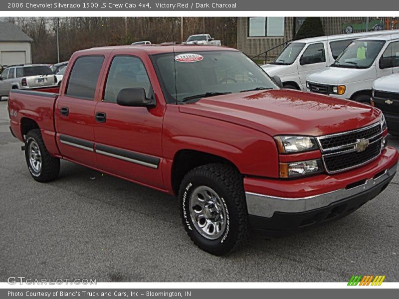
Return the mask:
[[367,179],[363,184],[359,184],[353,188],[347,187],[309,197],[286,198],[245,192],[248,214],[271,218],[275,212],[299,213],[327,207],[342,199],[368,191],[392,178],[396,173],[397,166],[398,164],[395,164],[395,166],[386,169],[380,176]]

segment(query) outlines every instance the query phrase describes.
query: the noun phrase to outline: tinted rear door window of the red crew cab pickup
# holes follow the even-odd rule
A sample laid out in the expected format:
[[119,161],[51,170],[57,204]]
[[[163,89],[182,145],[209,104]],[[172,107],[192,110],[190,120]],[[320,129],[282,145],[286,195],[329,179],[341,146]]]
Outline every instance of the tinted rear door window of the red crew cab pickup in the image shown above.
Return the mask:
[[65,94],[93,100],[104,56],[82,56],[76,59]]

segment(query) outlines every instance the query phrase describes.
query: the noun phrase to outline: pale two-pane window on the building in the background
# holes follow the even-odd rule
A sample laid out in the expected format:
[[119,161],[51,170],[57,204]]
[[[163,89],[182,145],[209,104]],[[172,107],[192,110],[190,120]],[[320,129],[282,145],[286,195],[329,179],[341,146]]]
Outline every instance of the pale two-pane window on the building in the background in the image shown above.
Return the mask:
[[284,17],[249,17],[248,37],[284,36]]

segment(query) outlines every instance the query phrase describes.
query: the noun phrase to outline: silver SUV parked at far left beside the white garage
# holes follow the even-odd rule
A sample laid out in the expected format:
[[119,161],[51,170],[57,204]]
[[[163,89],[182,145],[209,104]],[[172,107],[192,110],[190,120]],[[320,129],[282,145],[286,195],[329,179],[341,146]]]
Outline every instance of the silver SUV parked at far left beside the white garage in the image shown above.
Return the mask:
[[30,89],[55,85],[56,77],[46,64],[26,64],[5,68],[0,75],[0,96],[11,89]]

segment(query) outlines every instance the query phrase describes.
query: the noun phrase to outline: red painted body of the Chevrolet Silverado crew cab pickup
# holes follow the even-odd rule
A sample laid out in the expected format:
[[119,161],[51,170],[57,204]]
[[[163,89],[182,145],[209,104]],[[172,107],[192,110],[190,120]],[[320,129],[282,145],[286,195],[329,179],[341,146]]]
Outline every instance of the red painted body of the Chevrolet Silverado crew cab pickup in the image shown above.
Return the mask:
[[[194,48],[194,49],[193,49]],[[220,51],[221,47],[175,46],[175,52]],[[226,51],[233,49],[222,48]],[[123,46],[76,52],[69,60],[57,95],[21,94],[11,91],[8,100],[11,128],[23,141],[21,121],[35,121],[42,131],[50,154],[152,188],[173,193],[172,167],[176,154],[185,149],[223,157],[244,175],[246,191],[286,197],[310,196],[329,192],[372,177],[398,161],[398,152],[386,148],[379,158],[362,167],[334,175],[319,174],[307,178],[279,179],[280,161],[318,158],[319,150],[279,155],[276,135],[322,136],[354,130],[376,123],[381,111],[371,106],[314,93],[294,90],[250,91],[201,99],[194,104],[167,104],[150,55],[171,53],[172,46]],[[82,55],[104,55],[94,101],[65,95],[65,87],[74,61]],[[112,58],[133,55],[143,61],[154,90],[156,107],[123,107],[101,101]],[[57,92],[54,88],[40,91]],[[69,115],[60,114],[61,107]],[[96,112],[107,114],[106,123],[95,121]],[[386,133],[385,133],[386,134]],[[60,143],[60,135],[83,139],[114,148],[159,158],[159,166],[150,168]]]

